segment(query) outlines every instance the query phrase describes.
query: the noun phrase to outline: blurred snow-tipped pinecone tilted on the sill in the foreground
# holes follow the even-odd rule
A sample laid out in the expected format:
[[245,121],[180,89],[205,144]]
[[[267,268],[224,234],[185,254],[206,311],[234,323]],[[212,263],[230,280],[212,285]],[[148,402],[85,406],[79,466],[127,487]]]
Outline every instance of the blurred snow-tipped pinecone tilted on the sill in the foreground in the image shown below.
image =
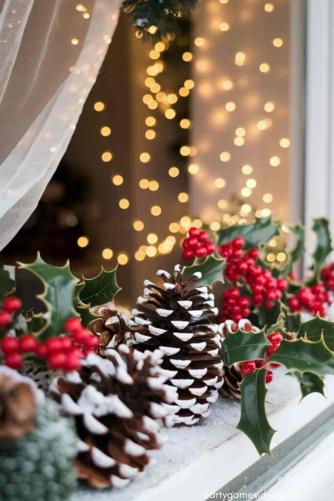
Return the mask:
[[107,359],[90,354],[78,372],[56,379],[55,399],[76,419],[80,438],[76,470],[95,487],[121,487],[149,463],[146,451],[162,439],[155,419],[167,421],[176,392],[165,385],[162,353],[140,353],[126,345],[108,349]]

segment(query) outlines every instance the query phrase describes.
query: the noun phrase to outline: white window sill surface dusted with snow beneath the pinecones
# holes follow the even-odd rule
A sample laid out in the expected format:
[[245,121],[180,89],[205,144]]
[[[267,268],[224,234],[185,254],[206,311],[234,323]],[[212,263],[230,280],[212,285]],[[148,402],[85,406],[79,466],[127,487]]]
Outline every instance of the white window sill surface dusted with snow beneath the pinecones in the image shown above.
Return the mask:
[[[274,369],[266,408],[278,430],[272,448],[310,422],[334,402],[334,377],[326,380],[326,397],[312,394],[299,404],[300,391],[292,376]],[[151,451],[144,474],[123,489],[95,490],[81,485],[71,501],[202,501],[253,464],[258,454],[250,440],[235,429],[240,403],[219,398],[202,423],[164,430],[168,441]]]

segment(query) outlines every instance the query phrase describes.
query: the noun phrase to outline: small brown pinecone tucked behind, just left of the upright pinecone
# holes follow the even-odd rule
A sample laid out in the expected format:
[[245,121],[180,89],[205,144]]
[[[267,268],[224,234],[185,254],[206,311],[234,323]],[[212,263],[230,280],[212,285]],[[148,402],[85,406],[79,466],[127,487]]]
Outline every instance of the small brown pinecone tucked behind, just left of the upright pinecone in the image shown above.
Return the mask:
[[97,311],[100,318],[93,320],[88,329],[99,337],[98,354],[105,356],[107,348],[117,348],[124,342],[124,336],[129,330],[125,315],[110,306],[102,306]]

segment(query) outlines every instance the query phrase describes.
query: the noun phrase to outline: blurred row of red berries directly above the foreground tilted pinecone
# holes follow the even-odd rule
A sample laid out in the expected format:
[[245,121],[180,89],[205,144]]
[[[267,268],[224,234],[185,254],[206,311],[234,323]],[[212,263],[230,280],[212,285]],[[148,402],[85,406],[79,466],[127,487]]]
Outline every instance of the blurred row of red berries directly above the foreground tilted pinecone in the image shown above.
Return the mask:
[[65,330],[70,336],[63,334],[58,338],[49,338],[45,343],[40,343],[31,335],[21,338],[7,335],[0,344],[5,364],[12,369],[20,369],[23,355],[29,353],[46,360],[51,369],[79,370],[82,357],[94,352],[99,339],[85,329],[78,318],[68,319]]

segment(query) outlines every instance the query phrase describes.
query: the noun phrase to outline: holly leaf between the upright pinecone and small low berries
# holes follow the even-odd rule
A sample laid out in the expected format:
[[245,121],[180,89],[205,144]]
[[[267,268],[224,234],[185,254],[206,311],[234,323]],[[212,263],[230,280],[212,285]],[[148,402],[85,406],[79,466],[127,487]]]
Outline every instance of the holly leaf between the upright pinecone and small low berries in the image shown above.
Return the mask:
[[263,359],[268,346],[270,343],[262,331],[238,330],[227,336],[221,345],[224,364],[230,367],[237,362]]

